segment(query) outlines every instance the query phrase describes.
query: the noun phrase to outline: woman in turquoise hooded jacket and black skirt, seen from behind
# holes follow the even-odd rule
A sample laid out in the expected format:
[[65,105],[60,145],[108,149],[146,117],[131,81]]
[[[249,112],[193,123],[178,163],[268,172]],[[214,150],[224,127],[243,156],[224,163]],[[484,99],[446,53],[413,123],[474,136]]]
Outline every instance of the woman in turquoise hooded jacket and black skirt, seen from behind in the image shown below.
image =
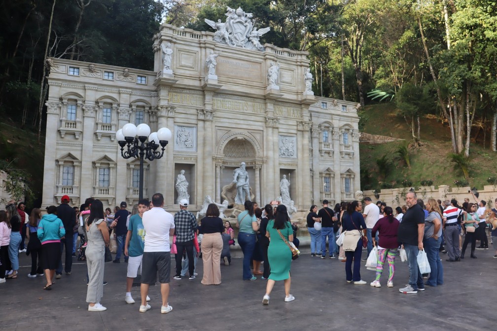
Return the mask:
[[48,214],[43,215],[40,224],[38,224],[38,239],[41,241],[40,262],[45,270],[47,284],[44,290],[51,290],[52,279],[55,275],[55,269],[59,266],[61,259],[61,239],[64,238],[66,230],[62,220],[57,217],[57,207],[50,206],[47,208]]

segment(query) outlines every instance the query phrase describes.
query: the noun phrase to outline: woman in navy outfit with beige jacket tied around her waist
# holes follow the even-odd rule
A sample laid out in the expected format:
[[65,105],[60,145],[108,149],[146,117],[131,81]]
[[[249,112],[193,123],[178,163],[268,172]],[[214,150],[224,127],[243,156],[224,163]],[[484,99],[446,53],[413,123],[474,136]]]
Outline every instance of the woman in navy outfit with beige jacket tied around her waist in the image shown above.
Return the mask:
[[[362,203],[354,200],[347,206],[347,211],[342,215],[342,229],[344,231],[362,231],[366,237],[366,223],[362,216]],[[367,238],[367,237],[366,237]],[[364,285],[366,282],[361,279],[361,256],[362,240],[359,236],[357,246],[354,251],[345,251],[345,276],[347,283],[354,282],[355,285]],[[354,262],[354,271],[352,272],[352,261]]]

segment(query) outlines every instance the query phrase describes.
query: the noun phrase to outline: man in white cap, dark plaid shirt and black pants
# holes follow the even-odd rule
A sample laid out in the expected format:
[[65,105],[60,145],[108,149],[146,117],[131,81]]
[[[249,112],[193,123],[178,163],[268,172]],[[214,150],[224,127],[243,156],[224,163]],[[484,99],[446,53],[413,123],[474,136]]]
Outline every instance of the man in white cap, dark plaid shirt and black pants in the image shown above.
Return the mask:
[[174,226],[176,229],[176,275],[172,278],[181,279],[181,259],[186,251],[188,257],[188,272],[190,276],[188,279],[195,278],[193,274],[193,233],[197,230],[198,224],[195,216],[186,208],[188,207],[188,200],[182,199],[179,201],[180,210],[174,215]]

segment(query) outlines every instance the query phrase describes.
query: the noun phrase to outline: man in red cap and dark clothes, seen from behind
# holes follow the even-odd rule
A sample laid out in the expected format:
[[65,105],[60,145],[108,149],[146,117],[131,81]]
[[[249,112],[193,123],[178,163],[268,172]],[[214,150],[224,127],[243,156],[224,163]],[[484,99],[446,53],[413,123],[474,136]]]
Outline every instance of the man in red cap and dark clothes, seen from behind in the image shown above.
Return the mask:
[[[67,234],[73,233],[73,227],[76,224],[76,211],[69,205],[69,200],[69,196],[62,196],[61,204],[57,207],[57,217],[62,220],[62,224],[64,224],[64,229],[66,230],[67,238],[63,237],[61,239],[61,255],[63,248],[66,247],[65,271],[68,276],[71,274],[73,266],[73,238],[72,235],[68,236]],[[62,257],[55,273],[55,278],[60,278],[62,275]]]

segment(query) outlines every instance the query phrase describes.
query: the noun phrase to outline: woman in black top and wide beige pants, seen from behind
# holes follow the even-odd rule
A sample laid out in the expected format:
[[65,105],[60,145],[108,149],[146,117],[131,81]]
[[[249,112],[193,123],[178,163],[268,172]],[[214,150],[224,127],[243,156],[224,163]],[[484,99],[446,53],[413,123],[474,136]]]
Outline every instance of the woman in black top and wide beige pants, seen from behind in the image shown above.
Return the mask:
[[223,250],[223,239],[221,233],[224,231],[223,220],[219,217],[219,209],[211,203],[207,207],[205,217],[200,221],[200,233],[202,238],[202,261],[204,263],[204,275],[202,284],[221,284],[221,251]]

